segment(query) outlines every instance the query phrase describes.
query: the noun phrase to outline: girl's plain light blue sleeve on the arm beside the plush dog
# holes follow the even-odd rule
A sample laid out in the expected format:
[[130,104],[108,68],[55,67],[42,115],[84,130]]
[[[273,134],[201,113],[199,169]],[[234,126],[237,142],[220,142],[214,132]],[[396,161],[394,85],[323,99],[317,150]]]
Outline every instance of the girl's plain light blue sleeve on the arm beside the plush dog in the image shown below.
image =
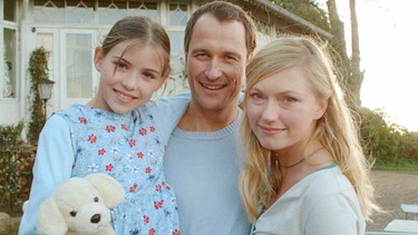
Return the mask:
[[58,185],[70,178],[74,161],[69,126],[62,117],[52,115],[39,136],[29,203],[23,212],[19,235],[37,234],[40,204]]

